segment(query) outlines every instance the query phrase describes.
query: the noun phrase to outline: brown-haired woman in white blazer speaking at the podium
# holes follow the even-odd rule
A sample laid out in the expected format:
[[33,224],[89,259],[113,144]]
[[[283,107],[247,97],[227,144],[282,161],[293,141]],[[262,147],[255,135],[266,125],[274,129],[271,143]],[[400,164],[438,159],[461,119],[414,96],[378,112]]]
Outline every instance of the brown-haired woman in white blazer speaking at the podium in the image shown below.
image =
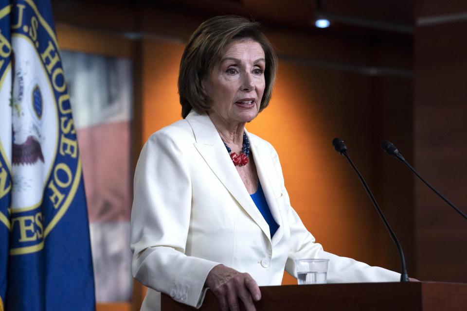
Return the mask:
[[[133,276],[200,306],[205,289],[222,310],[255,310],[259,286],[280,285],[294,259],[330,259],[328,282],[398,281],[400,275],[323,251],[290,207],[279,158],[246,122],[266,108],[277,67],[259,25],[214,17],[180,63],[183,120],[154,133],[138,160],[131,213]],[[296,276],[296,275],[295,275]]]

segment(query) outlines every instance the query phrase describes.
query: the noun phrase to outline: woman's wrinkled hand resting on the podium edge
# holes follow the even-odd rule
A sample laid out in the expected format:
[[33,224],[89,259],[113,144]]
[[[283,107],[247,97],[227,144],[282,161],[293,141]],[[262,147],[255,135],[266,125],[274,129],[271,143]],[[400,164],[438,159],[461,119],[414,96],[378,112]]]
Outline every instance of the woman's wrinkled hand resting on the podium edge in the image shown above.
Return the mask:
[[223,264],[211,269],[204,284],[216,295],[222,311],[240,310],[238,298],[247,311],[255,311],[253,300],[261,299],[261,291],[248,273],[240,273]]

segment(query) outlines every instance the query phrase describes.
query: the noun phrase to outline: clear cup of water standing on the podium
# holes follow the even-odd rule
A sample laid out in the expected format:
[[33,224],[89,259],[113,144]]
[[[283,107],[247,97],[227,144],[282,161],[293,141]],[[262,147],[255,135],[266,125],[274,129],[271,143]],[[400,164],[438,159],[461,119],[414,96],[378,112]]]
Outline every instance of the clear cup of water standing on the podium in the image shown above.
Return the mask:
[[296,259],[294,262],[298,285],[326,284],[329,259]]

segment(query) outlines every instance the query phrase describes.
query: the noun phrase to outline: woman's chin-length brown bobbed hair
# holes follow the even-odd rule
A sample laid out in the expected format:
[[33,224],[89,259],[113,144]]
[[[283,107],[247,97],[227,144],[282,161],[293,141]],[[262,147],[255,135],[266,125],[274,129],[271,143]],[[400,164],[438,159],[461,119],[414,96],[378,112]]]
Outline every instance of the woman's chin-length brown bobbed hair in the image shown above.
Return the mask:
[[217,16],[199,25],[188,40],[181,56],[179,95],[183,118],[186,118],[192,108],[199,114],[211,109],[212,102],[203,92],[201,81],[220,60],[224,48],[238,38],[251,38],[263,48],[266,60],[264,71],[266,87],[259,111],[268,106],[276,79],[277,56],[269,40],[262,33],[260,24],[245,17]]

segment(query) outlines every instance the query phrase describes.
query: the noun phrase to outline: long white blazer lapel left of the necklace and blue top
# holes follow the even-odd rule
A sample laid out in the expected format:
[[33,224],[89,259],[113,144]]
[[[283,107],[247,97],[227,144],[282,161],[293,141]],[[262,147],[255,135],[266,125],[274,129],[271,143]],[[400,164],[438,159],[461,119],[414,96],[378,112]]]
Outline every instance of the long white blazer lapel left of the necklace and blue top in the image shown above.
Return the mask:
[[199,154],[204,158],[213,173],[216,174],[219,181],[229,190],[238,204],[250,215],[270,240],[268,223],[251,199],[209,116],[199,115],[192,110],[186,120],[195,134],[195,148]]

